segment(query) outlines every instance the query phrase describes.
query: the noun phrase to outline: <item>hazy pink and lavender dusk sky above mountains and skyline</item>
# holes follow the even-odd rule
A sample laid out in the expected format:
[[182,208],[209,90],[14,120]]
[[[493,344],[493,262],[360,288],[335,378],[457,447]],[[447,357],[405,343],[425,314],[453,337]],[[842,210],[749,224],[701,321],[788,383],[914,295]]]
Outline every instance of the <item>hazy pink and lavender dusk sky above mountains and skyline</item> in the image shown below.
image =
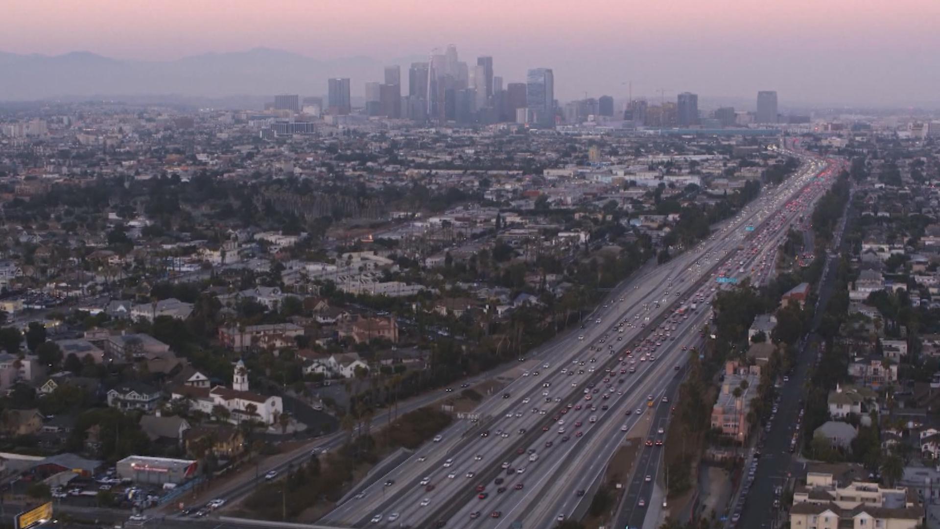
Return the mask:
[[[173,60],[255,47],[391,60],[457,45],[505,82],[553,68],[559,99],[681,91],[781,105],[940,101],[940,0],[30,0],[0,51]],[[376,79],[382,72],[376,72]],[[658,95],[657,95],[658,97]]]

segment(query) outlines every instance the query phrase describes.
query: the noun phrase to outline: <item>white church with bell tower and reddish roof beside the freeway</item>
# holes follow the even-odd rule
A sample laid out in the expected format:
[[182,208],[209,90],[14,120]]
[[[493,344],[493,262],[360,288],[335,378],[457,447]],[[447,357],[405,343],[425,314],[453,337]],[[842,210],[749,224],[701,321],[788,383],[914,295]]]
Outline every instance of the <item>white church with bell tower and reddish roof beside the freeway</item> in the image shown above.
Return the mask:
[[279,396],[264,396],[248,389],[248,370],[244,361],[235,364],[232,374],[232,387],[198,387],[184,383],[173,390],[173,400],[189,399],[191,409],[197,409],[209,415],[216,406],[228,410],[228,422],[239,424],[245,420],[254,420],[266,425],[277,423],[284,404]]

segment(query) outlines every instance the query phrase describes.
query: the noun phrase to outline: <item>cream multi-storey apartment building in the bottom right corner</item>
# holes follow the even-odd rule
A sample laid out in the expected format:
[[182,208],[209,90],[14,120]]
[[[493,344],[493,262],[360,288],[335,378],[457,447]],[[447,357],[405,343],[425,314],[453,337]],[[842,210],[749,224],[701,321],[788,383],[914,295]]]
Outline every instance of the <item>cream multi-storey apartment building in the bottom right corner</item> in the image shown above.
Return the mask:
[[791,529],[915,529],[923,521],[913,489],[840,480],[825,469],[832,466],[811,466],[806,485],[793,489]]

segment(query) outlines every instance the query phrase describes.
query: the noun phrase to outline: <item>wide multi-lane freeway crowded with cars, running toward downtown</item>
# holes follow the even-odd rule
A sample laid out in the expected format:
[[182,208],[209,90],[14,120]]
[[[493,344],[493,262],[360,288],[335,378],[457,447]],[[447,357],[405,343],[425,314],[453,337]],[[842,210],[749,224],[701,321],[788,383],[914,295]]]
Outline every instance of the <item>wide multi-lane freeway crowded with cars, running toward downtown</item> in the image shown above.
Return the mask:
[[[621,284],[586,329],[545,347],[528,371],[484,401],[477,423],[448,427],[321,522],[546,527],[571,516],[583,501],[574,491],[596,480],[624,429],[644,420],[644,403],[654,403],[681,369],[688,358],[682,347],[700,340],[706,311],[690,318],[677,309],[711,297],[713,274],[738,280],[748,266],[765,269],[766,254],[744,252],[744,243],[776,248],[790,218],[778,210],[806,208],[824,187],[811,184],[823,167],[805,160],[797,175],[719,224],[708,241]],[[751,226],[762,228],[745,230]],[[637,407],[640,413],[627,415]]]

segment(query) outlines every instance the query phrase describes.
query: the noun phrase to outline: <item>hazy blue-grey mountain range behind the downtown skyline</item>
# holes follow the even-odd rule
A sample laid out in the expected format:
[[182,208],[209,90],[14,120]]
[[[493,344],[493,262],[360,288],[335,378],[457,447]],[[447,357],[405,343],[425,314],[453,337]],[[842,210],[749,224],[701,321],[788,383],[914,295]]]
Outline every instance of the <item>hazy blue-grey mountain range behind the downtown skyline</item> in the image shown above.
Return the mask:
[[209,99],[242,94],[273,101],[277,93],[325,94],[329,77],[350,77],[355,94],[366,81],[381,81],[386,64],[400,64],[406,78],[411,62],[420,60],[427,57],[401,57],[388,63],[367,56],[324,61],[270,48],[167,61],[118,60],[90,52],[59,56],[0,52],[0,101],[101,94]]

